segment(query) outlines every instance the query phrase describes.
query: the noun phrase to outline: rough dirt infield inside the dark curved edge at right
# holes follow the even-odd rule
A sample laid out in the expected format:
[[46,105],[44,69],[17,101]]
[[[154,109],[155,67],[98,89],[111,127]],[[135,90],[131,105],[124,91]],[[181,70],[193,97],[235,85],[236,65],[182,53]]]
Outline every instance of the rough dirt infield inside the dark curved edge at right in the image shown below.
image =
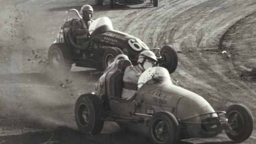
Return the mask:
[[255,25],[256,13],[241,18],[223,35],[220,46],[231,54],[232,63],[240,78],[245,82],[256,79]]

